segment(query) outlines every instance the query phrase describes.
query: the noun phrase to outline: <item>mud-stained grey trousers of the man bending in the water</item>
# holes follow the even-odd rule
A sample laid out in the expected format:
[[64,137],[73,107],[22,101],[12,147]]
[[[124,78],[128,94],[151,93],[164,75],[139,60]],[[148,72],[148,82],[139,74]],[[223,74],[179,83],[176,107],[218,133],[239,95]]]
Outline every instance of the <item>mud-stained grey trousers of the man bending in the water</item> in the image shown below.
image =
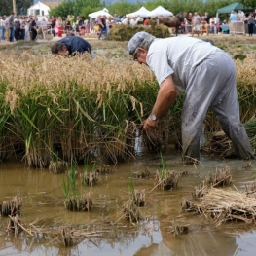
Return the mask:
[[233,142],[239,158],[253,158],[245,128],[240,123],[236,67],[225,52],[215,52],[190,74],[182,110],[182,147],[185,161],[200,159],[201,127],[211,109]]

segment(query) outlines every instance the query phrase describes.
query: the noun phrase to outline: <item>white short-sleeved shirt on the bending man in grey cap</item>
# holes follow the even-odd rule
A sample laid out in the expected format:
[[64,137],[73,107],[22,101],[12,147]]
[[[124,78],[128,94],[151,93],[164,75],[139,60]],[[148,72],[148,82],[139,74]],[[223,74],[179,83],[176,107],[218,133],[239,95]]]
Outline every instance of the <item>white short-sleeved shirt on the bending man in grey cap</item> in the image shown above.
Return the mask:
[[172,75],[175,86],[186,91],[195,67],[216,51],[222,50],[193,37],[157,38],[149,48],[146,62],[156,75],[159,85]]

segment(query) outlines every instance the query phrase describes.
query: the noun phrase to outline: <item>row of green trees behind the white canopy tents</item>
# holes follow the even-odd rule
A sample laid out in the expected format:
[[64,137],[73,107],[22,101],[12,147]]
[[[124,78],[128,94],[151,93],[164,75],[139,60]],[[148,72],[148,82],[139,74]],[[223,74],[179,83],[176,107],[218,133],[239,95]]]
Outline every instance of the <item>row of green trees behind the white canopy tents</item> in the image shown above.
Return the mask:
[[[0,3],[3,0],[0,0]],[[31,1],[31,0],[26,0]],[[148,0],[143,3],[143,6],[148,10],[153,10],[158,6],[163,6],[165,9],[171,11],[174,15],[179,12],[198,12],[201,16],[207,12],[210,16],[215,16],[216,11],[226,5],[238,2],[237,0]],[[255,7],[255,0],[243,0],[241,1],[246,6]],[[0,5],[1,6],[1,5]],[[11,5],[12,6],[12,5]],[[81,16],[88,18],[88,15],[92,12],[103,9],[105,2],[101,3],[100,0],[65,0],[59,6],[50,11],[51,16],[65,18],[68,15],[74,15],[75,17]],[[128,3],[126,0],[118,1],[112,5],[107,6],[110,14],[117,14],[124,16],[126,14],[137,11],[142,4],[140,1],[137,4]],[[1,8],[0,8],[1,11]]]

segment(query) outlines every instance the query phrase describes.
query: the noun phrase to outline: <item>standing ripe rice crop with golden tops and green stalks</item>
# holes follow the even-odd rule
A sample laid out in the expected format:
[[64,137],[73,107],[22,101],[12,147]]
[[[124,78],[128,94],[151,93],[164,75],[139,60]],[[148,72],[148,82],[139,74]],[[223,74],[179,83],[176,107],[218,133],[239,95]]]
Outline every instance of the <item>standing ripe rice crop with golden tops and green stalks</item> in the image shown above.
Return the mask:
[[[246,122],[256,109],[256,40],[239,38],[213,40],[234,59],[245,55],[235,63],[241,120]],[[47,45],[35,43],[30,48],[2,46],[0,160],[21,159],[28,167],[46,168],[56,159],[118,163],[134,157],[137,129],[151,112],[158,84],[147,67],[131,61],[126,44],[91,40],[96,58],[55,57]],[[150,150],[179,134],[182,97],[163,119],[157,137],[145,138]],[[211,113],[205,124],[207,131],[219,129]]]

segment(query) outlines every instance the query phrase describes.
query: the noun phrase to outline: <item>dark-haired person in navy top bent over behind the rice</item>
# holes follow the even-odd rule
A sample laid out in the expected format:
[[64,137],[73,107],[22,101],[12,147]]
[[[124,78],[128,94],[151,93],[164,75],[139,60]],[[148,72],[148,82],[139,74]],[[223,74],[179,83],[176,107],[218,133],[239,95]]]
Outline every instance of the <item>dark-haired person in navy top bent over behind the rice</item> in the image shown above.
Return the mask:
[[88,52],[91,54],[91,45],[79,36],[67,36],[57,41],[51,48],[54,55],[76,55]]

